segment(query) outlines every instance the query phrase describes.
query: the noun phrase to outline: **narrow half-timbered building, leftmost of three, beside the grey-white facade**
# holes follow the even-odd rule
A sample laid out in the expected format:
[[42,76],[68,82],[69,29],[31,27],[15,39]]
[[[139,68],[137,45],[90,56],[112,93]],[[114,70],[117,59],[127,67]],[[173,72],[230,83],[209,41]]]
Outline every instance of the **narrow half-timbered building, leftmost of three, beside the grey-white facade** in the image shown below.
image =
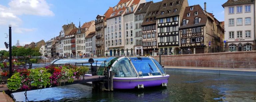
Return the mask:
[[156,55],[157,49],[157,29],[156,15],[162,2],[151,3],[142,22],[142,46],[144,55]]

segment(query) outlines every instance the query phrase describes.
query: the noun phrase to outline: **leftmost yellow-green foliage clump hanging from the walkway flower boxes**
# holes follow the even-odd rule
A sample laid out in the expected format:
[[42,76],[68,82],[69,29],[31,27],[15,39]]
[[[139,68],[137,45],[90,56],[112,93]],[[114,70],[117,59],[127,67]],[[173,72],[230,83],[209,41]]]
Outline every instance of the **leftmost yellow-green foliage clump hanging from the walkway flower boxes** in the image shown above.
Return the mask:
[[21,88],[21,76],[20,73],[14,73],[11,78],[7,80],[7,87],[11,91],[16,91]]

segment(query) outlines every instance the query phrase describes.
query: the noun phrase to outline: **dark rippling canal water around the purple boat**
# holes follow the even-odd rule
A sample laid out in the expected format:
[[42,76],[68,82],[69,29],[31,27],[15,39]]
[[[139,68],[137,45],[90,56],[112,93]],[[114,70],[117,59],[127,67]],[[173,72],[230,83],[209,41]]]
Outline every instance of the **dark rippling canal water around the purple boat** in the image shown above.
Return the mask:
[[[256,77],[172,72],[168,86],[140,90],[93,91],[91,86],[74,84],[27,91],[27,101],[134,101],[134,102],[256,102]],[[13,93],[26,101],[24,92]]]

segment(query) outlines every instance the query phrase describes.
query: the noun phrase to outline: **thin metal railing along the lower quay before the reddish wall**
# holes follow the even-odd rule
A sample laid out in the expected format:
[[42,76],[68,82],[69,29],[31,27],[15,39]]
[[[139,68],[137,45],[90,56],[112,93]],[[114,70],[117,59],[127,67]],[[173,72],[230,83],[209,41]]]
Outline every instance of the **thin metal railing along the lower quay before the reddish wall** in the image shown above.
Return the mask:
[[171,61],[171,60],[164,60],[164,57],[162,57],[161,64],[163,66],[177,66],[177,67],[256,70],[256,61]]

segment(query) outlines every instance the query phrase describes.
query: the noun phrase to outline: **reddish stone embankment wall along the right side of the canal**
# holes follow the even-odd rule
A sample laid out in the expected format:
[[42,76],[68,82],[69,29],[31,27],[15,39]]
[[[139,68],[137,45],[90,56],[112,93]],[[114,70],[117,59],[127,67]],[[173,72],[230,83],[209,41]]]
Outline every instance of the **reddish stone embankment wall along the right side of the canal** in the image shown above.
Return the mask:
[[[159,56],[152,56],[159,61]],[[163,66],[256,69],[256,51],[161,56]]]

